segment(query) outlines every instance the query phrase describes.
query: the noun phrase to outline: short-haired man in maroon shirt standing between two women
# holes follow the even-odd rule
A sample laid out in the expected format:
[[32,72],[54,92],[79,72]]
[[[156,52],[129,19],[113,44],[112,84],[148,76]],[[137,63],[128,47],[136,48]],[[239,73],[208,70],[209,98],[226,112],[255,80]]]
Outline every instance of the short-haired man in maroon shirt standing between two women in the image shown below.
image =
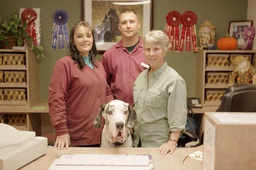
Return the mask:
[[139,37],[140,21],[132,9],[119,14],[118,28],[122,40],[108,49],[102,58],[107,81],[114,98],[133,106],[133,85],[137,76],[145,69],[143,40]]

